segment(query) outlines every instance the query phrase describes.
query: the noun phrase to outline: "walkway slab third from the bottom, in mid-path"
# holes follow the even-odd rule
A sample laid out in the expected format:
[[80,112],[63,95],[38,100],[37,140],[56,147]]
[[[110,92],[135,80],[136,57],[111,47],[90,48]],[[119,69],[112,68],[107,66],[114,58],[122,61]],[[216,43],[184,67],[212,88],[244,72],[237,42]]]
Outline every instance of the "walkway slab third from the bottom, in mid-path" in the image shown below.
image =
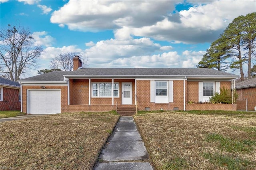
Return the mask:
[[115,131],[109,141],[138,141],[142,140],[138,131]]

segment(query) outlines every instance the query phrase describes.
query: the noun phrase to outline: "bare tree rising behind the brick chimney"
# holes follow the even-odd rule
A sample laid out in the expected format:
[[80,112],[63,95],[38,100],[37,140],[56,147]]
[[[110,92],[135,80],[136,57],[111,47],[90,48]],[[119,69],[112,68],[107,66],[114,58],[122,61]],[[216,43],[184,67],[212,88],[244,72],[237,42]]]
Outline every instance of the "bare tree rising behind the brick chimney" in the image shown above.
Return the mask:
[[[73,70],[73,57],[77,55],[75,52],[67,52],[56,55],[50,63],[50,68],[52,69],[61,69],[63,71],[72,71]],[[79,54],[80,59],[82,60],[82,67],[87,66],[88,57],[82,57],[82,54]]]

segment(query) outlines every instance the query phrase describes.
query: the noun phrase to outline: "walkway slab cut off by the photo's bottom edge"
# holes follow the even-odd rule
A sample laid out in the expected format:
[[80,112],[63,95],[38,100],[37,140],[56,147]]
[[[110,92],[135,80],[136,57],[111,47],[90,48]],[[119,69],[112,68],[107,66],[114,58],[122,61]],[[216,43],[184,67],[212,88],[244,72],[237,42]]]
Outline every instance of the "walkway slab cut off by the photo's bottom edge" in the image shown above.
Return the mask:
[[148,162],[108,162],[100,163],[95,170],[153,170]]

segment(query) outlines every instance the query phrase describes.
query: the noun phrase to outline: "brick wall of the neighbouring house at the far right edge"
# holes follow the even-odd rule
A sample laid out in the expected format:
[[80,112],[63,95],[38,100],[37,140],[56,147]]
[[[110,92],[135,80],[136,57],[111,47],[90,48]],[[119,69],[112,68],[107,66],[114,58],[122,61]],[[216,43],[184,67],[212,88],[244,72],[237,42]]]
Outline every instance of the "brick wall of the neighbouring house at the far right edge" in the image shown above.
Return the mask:
[[246,100],[247,99],[247,109],[249,111],[254,111],[254,107],[256,106],[256,87],[250,87],[245,89],[237,89],[238,94],[237,109],[238,110],[246,110]]

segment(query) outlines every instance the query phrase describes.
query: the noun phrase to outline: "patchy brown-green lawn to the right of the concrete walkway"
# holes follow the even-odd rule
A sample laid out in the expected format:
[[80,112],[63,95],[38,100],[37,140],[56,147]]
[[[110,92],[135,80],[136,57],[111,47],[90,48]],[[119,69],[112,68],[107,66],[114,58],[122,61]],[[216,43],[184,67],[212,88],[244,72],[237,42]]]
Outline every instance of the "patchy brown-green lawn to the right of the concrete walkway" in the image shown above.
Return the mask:
[[135,121],[156,170],[256,169],[255,113],[142,113]]

